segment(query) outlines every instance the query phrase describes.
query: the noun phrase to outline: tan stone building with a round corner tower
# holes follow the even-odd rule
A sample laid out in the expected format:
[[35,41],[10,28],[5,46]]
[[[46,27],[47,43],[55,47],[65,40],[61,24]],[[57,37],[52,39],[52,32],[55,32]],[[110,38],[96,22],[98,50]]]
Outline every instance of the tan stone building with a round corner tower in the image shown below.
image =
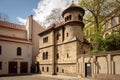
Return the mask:
[[[77,74],[78,57],[89,51],[83,34],[84,9],[72,3],[62,12],[64,21],[39,34],[39,62],[42,74]],[[87,48],[86,48],[87,47]]]

